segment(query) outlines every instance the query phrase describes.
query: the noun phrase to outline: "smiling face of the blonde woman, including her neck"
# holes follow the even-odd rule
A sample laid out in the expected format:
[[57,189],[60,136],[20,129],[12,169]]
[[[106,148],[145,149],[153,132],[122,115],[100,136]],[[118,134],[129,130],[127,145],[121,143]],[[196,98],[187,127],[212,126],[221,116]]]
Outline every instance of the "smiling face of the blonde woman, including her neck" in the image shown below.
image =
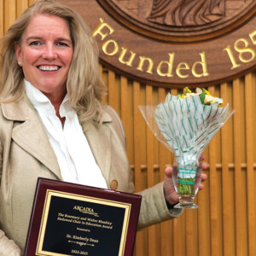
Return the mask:
[[17,61],[25,79],[46,96],[66,94],[73,44],[66,20],[55,15],[35,15],[15,44]]

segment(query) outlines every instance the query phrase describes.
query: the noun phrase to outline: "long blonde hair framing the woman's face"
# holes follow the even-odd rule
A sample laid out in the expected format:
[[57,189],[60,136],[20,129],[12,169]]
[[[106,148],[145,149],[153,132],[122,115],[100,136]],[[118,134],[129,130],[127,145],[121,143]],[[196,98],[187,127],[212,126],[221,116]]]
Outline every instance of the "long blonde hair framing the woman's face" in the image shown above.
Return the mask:
[[106,87],[98,70],[98,49],[90,28],[83,18],[67,6],[53,0],[38,0],[9,27],[1,39],[0,100],[19,101],[24,93],[24,74],[15,56],[15,43],[21,44],[22,35],[34,15],[55,15],[67,20],[73,41],[73,61],[67,75],[67,94],[81,123],[99,121],[102,96]]

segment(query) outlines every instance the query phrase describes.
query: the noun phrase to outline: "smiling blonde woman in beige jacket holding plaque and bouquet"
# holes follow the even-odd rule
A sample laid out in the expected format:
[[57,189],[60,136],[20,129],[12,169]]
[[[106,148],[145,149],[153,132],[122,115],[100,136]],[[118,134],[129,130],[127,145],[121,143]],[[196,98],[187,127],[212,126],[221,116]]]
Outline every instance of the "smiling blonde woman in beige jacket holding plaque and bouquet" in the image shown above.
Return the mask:
[[[2,39],[0,255],[24,250],[38,177],[134,191],[120,119],[101,104],[91,40],[83,19],[51,0],[26,9]],[[181,213],[172,209],[172,168],[141,195],[139,229]]]

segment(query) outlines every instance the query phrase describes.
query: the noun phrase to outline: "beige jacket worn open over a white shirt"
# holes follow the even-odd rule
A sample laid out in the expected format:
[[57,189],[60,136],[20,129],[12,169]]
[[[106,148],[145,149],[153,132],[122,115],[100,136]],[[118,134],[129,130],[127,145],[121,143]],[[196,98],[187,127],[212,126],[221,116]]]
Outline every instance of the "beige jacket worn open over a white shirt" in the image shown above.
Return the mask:
[[[113,108],[105,110],[102,126],[84,127],[84,134],[108,188],[132,193],[125,132]],[[0,105],[0,175],[0,256],[16,256],[25,247],[38,177],[62,180],[44,126],[26,96],[20,102]],[[180,214],[178,210],[168,211],[162,183],[140,194],[143,201],[138,229]]]

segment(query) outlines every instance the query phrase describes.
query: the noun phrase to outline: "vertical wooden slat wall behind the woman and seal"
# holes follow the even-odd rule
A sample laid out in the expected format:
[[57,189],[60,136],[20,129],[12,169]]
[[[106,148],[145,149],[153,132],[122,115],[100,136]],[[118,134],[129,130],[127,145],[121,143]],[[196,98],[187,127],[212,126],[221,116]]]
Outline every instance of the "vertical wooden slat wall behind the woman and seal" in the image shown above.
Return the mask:
[[[34,0],[0,0],[0,36]],[[127,154],[136,191],[164,179],[172,154],[148,129],[138,106],[164,102],[169,89],[140,84],[99,65],[108,87],[103,102],[113,106],[125,127]],[[198,210],[137,232],[135,256],[256,255],[256,73],[209,86],[236,113],[212,139],[204,154],[210,167]],[[171,93],[177,95],[178,90]]]

